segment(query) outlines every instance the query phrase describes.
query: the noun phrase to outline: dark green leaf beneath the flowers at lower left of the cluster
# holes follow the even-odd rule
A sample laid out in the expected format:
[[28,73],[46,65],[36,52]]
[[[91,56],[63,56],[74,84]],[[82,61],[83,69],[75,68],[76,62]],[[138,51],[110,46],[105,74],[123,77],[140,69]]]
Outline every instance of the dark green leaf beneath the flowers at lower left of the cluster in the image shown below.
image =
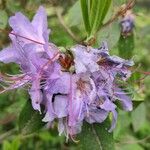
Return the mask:
[[26,135],[40,130],[45,124],[42,122],[43,117],[38,111],[33,110],[31,102],[28,100],[19,116],[18,124],[20,132]]

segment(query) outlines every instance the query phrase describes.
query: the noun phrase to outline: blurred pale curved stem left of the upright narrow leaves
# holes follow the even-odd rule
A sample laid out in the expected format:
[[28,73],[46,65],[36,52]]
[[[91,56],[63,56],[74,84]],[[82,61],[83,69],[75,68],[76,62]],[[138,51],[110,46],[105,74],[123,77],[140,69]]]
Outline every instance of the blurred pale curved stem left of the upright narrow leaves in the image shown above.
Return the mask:
[[70,30],[70,28],[65,24],[64,19],[62,17],[62,11],[58,8],[55,8],[56,11],[56,15],[58,17],[58,20],[60,22],[60,24],[63,26],[63,28],[65,29],[65,31],[68,33],[68,35],[70,35],[70,37],[76,41],[76,42],[80,42],[80,40],[74,35],[74,33]]

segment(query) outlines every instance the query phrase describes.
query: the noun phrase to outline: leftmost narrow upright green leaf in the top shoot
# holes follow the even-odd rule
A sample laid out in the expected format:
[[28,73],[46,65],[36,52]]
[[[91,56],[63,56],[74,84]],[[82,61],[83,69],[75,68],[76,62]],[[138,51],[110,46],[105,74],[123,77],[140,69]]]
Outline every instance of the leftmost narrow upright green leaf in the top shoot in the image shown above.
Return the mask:
[[88,1],[87,0],[80,0],[80,4],[81,4],[84,26],[85,26],[86,32],[88,34],[90,34],[91,28],[90,28],[90,22],[89,22]]

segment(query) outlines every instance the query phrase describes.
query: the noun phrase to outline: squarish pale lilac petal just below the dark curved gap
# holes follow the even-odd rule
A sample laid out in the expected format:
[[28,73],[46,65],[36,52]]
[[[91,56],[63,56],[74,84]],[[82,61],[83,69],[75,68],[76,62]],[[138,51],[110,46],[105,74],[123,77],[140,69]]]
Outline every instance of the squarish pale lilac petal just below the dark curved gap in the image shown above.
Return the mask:
[[54,111],[58,118],[66,117],[68,114],[68,98],[67,96],[55,96]]

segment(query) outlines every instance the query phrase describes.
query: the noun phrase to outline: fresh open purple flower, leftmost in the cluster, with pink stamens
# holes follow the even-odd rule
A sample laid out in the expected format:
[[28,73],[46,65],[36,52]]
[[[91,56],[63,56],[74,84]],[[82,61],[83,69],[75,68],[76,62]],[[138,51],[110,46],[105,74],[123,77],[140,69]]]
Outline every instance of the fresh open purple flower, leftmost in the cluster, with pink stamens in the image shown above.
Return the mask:
[[[21,13],[16,13],[9,19],[9,23],[13,29],[10,34],[12,44],[0,52],[0,61],[19,64],[24,78],[19,80],[16,76],[15,84],[5,90],[19,88],[30,83],[29,94],[33,108],[41,111],[40,104],[43,101],[41,92],[43,85],[41,84],[46,79],[58,78],[61,71],[60,65],[56,62],[58,49],[54,44],[48,43],[49,30],[46,13],[44,8],[40,7],[32,22]],[[38,44],[38,41],[43,44]]]

